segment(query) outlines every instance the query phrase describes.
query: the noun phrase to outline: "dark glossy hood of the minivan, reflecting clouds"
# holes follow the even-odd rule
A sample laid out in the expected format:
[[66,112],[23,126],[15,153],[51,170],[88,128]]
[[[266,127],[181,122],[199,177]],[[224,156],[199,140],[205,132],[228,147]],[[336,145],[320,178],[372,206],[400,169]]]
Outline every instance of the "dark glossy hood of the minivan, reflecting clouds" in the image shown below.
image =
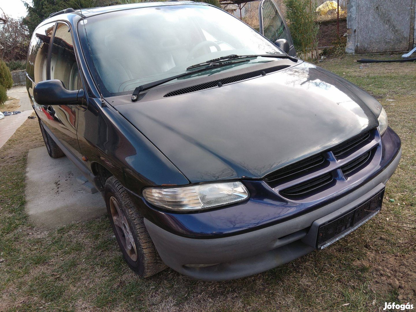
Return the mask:
[[262,178],[376,127],[381,106],[353,84],[303,62],[116,108],[196,183]]

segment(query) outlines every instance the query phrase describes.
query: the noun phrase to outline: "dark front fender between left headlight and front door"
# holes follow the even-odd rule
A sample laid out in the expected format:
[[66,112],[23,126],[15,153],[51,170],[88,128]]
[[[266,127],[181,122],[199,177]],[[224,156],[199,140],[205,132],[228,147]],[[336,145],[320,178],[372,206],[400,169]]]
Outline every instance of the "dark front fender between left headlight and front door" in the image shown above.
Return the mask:
[[[141,194],[145,186],[187,184],[189,181],[156,147],[109,105],[90,99],[80,112],[78,139],[93,171],[99,163],[124,187]],[[82,115],[82,116],[81,116]]]

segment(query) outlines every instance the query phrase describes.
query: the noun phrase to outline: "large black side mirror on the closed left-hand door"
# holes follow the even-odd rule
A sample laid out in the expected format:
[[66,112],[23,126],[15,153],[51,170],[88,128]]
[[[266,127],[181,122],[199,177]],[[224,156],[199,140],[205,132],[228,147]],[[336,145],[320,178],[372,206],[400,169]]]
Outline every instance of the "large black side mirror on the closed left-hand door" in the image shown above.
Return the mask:
[[80,104],[84,98],[84,90],[70,91],[60,80],[38,82],[33,88],[33,97],[39,105]]

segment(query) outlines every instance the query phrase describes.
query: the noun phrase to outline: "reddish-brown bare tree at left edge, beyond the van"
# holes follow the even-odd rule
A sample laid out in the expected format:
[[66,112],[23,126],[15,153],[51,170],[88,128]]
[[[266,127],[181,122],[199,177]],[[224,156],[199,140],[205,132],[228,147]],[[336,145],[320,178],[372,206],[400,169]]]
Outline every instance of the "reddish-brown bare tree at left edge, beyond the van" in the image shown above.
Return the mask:
[[5,61],[26,59],[30,35],[23,19],[5,15],[5,24],[0,25],[0,58]]

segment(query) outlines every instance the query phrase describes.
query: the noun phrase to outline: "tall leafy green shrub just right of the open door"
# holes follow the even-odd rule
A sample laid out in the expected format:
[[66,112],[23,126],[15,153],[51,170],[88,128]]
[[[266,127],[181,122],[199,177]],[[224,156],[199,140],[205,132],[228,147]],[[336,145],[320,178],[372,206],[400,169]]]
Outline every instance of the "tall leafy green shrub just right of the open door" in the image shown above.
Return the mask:
[[316,50],[319,26],[314,22],[314,0],[284,0],[293,43],[300,57],[308,59]]

